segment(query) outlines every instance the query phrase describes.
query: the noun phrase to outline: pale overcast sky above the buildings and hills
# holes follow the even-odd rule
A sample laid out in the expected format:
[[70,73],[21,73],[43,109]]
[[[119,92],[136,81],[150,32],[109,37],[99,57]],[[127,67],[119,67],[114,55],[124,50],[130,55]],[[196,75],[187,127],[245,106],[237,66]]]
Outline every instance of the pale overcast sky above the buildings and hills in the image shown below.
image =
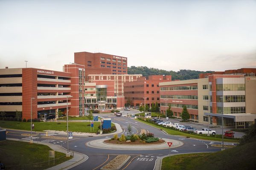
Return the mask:
[[256,68],[256,0],[0,0],[0,68],[62,71],[81,51],[168,71]]

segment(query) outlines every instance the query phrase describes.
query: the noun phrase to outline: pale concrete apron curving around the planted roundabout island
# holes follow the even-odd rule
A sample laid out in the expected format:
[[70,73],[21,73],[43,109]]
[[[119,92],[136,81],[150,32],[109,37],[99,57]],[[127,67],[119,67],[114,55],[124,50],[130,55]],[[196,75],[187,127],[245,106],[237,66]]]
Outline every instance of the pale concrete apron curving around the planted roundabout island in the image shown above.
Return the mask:
[[98,149],[109,149],[109,150],[161,150],[169,149],[167,142],[172,142],[171,148],[180,147],[183,142],[174,139],[164,139],[165,142],[161,144],[109,144],[104,142],[104,139],[97,139],[87,142],[85,145],[88,147],[94,147]]

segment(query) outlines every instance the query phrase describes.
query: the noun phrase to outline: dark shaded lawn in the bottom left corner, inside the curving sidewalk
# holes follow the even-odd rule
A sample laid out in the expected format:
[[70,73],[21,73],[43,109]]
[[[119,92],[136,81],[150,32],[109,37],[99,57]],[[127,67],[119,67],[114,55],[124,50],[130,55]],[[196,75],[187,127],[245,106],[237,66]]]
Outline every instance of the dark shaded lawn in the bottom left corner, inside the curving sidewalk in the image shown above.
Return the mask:
[[[46,145],[42,144],[29,144],[28,142],[20,141],[0,141],[0,160],[5,164],[6,169],[19,169],[24,168],[44,170],[49,167],[60,164],[64,161],[67,161],[71,158],[66,158],[65,153],[55,152],[55,165],[53,161],[48,165],[48,150],[52,150]],[[59,158],[59,159],[57,159]],[[53,158],[50,158],[52,160]],[[44,162],[47,161],[47,162]],[[44,162],[41,164],[35,164],[39,162]],[[28,165],[35,164],[35,165]],[[17,166],[18,165],[18,166]],[[17,166],[16,168],[13,166]],[[8,168],[10,167],[10,168]],[[11,168],[13,167],[13,168]]]

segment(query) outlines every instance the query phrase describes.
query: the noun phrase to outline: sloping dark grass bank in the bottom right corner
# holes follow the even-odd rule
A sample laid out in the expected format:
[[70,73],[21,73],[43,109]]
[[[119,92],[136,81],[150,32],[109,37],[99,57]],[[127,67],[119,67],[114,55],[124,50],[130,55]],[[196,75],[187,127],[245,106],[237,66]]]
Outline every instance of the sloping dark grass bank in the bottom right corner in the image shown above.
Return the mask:
[[255,170],[256,141],[216,153],[195,153],[163,159],[162,170]]

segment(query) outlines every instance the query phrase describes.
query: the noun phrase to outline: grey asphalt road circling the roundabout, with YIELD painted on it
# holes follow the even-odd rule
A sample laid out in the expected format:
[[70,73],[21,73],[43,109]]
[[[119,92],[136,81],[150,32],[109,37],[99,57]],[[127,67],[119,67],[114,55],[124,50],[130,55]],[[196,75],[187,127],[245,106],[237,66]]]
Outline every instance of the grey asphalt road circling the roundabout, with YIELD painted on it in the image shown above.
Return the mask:
[[[176,147],[171,150],[171,154],[174,153],[191,153],[191,152],[216,152],[221,150],[220,148],[211,147],[211,144],[220,144],[221,142],[211,142],[211,141],[203,141],[199,139],[189,139],[183,138],[179,136],[171,136],[163,131],[151,127],[149,125],[145,125],[141,122],[137,122],[136,119],[124,117],[126,113],[134,113],[135,111],[125,111],[121,117],[113,116],[112,114],[103,114],[104,118],[111,118],[111,120],[115,123],[121,125],[123,129],[123,133],[127,132],[127,126],[132,126],[132,131],[134,134],[140,133],[141,129],[145,129],[150,133],[154,133],[154,136],[165,139],[175,139],[183,142],[184,144],[180,147]],[[19,131],[19,130],[8,130],[7,137],[8,138],[16,138],[23,140],[30,140],[29,136],[26,135],[27,132]],[[121,133],[122,134],[122,133]],[[119,136],[121,136],[119,134]],[[37,140],[41,142],[48,142],[52,144],[58,144],[62,147],[67,148],[66,140],[58,139],[64,138],[66,136],[60,135],[58,133],[49,134],[53,139],[48,139],[45,136],[45,133],[39,133],[38,136],[33,136],[33,140],[36,143]],[[87,142],[102,139],[102,138],[112,138],[111,136],[101,136],[101,137],[84,137],[84,136],[74,136],[73,139],[69,140],[69,149],[83,153],[87,155],[89,158],[87,161],[79,164],[76,167],[73,167],[72,170],[99,170],[117,155],[130,155],[131,159],[121,168],[122,170],[153,170],[156,159],[169,154],[169,149],[161,149],[161,150],[109,150],[109,149],[99,149],[94,147],[88,147],[86,145]],[[168,142],[168,141],[167,141]],[[166,144],[167,145],[167,144]]]

